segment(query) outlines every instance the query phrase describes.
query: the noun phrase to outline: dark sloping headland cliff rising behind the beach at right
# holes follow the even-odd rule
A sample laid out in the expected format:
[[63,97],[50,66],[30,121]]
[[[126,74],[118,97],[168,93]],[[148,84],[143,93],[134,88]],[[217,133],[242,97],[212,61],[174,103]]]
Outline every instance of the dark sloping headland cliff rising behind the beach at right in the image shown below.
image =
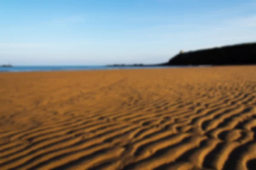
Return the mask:
[[256,43],[224,46],[177,54],[162,65],[248,65],[256,64]]

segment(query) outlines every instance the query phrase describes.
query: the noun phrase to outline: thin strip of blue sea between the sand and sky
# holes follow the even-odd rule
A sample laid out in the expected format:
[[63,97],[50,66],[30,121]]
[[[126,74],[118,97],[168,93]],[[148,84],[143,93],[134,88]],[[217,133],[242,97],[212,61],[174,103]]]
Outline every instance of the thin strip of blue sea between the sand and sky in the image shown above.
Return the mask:
[[79,70],[112,70],[112,69],[142,69],[142,68],[166,68],[166,67],[107,67],[99,65],[84,66],[13,66],[0,67],[0,72],[28,72],[28,71],[79,71]]

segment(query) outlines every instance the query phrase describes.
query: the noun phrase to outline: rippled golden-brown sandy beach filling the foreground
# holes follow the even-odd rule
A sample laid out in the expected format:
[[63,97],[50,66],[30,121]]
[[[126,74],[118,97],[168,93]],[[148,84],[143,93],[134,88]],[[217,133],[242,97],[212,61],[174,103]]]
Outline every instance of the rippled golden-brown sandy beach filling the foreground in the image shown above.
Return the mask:
[[0,73],[0,170],[254,170],[256,66]]

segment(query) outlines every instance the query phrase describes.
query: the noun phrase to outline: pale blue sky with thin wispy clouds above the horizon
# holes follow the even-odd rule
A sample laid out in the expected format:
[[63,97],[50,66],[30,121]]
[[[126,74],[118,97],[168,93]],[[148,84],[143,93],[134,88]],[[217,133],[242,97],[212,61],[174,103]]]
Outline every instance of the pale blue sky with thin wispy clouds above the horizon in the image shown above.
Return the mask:
[[0,0],[0,64],[161,63],[256,42],[255,0]]

